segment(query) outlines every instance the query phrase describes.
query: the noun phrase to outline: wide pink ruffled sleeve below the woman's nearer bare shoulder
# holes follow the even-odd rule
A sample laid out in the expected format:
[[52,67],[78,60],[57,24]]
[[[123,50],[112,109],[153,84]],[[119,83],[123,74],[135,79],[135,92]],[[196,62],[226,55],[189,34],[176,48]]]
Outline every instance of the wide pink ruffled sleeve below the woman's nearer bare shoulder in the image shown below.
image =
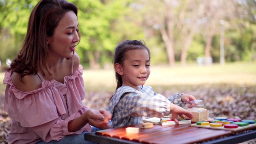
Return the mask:
[[17,90],[11,81],[11,72],[6,72],[3,80],[6,85],[4,110],[12,120],[21,126],[33,127],[66,114],[58,89],[52,87],[54,81],[44,81],[42,87],[30,92]]

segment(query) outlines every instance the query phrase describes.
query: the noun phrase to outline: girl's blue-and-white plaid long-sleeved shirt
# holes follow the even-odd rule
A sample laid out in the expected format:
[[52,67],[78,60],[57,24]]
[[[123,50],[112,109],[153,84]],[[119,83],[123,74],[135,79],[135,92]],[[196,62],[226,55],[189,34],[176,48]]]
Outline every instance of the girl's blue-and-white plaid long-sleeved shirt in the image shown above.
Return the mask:
[[170,114],[171,102],[185,106],[181,94],[166,98],[154,92],[151,86],[140,86],[136,90],[130,86],[121,86],[116,90],[108,104],[107,110],[112,113],[112,128],[142,123],[142,116],[162,117]]

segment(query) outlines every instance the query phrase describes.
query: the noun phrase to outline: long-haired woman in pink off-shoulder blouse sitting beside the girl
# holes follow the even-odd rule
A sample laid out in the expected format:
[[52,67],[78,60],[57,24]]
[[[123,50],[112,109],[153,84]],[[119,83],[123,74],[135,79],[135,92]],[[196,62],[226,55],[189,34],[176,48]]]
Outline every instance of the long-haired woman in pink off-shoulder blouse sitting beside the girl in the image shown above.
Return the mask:
[[9,144],[89,144],[84,134],[94,131],[90,125],[104,128],[111,119],[82,104],[77,14],[66,0],[40,0],[32,10],[24,46],[4,78]]

